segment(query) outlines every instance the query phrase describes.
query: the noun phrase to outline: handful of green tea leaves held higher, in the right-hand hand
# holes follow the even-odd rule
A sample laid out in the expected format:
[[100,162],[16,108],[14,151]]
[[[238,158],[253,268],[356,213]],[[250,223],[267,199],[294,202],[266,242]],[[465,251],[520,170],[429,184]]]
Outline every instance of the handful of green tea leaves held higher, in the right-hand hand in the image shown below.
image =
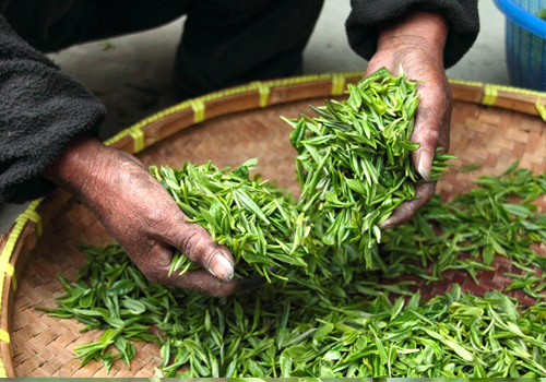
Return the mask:
[[[298,206],[325,227],[327,246],[351,240],[371,266],[371,248],[381,240],[378,225],[402,202],[415,199],[420,176],[410,155],[419,147],[411,142],[419,103],[417,83],[403,73],[392,76],[380,69],[358,84],[348,84],[346,102],[325,100],[311,109],[319,117],[285,119],[294,128],[301,184]],[[453,156],[438,153],[431,180],[437,180]]]

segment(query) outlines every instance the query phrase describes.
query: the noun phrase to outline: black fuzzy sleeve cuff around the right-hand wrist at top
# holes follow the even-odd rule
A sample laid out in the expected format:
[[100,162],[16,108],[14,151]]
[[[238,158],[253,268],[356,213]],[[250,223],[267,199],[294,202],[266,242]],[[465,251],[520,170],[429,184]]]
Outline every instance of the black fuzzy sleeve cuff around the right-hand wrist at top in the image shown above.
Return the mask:
[[477,0],[351,0],[345,24],[353,50],[369,60],[377,49],[379,25],[414,11],[439,11],[449,22],[443,53],[446,68],[455,64],[476,40],[479,32]]

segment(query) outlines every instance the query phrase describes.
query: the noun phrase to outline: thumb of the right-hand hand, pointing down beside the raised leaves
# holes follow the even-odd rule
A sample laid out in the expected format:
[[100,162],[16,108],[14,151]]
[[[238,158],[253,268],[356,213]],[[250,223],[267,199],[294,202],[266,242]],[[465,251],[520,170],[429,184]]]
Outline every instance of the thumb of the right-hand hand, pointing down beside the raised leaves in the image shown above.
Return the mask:
[[418,91],[420,100],[411,139],[420,143],[420,146],[412,153],[411,159],[423,179],[429,180],[437,147],[442,147],[444,152],[449,150],[451,93],[449,86],[439,91],[437,82],[432,84],[425,82],[422,86]]

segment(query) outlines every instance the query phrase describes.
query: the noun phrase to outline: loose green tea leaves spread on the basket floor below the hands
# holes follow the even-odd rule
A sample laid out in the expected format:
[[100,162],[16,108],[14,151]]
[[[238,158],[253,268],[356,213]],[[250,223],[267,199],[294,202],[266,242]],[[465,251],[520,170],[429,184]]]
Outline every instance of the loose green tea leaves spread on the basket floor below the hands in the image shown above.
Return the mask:
[[[423,301],[418,291],[408,290],[411,282],[384,283],[404,268],[436,277],[412,271],[420,267],[410,254],[419,251],[425,251],[420,261],[443,261],[440,275],[450,267],[487,272],[483,252],[494,244],[487,236],[473,239],[480,223],[489,235],[492,226],[501,226],[495,229],[505,229],[505,238],[513,229],[510,246],[525,248],[521,255],[507,251],[527,275],[507,274],[514,277],[513,288],[544,288],[536,272],[544,262],[530,252],[529,240],[546,242],[546,216],[531,206],[546,194],[546,175],[512,166],[477,183],[449,204],[435,199],[408,225],[384,235],[373,270],[347,243],[324,253],[329,263],[310,262],[307,272],[290,267],[286,279],[216,299],[147,282],[117,244],[82,246],[87,265],[75,283],[61,277],[60,308],[47,311],[76,318],[86,324],[84,331],[106,330],[100,341],[75,348],[83,363],[103,359],[109,369],[121,358],[130,365],[131,341],[154,342],[163,358],[157,374],[164,377],[544,377],[545,296],[535,294],[535,306],[521,307],[500,291],[476,297],[453,285],[444,296]],[[490,226],[484,224],[483,198],[496,201],[487,211],[503,206],[508,214],[491,213]],[[444,255],[438,246],[453,246],[456,254]],[[473,246],[482,254],[461,260],[463,251],[475,253]],[[492,255],[502,254],[495,250]],[[151,326],[162,334],[152,334]]]

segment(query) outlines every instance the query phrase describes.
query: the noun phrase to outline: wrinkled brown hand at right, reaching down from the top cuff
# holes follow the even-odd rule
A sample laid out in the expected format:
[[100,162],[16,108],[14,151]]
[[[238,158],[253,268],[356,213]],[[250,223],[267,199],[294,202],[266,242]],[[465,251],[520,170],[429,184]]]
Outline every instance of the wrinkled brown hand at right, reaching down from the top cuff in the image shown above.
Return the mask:
[[[432,158],[437,147],[449,148],[451,120],[451,89],[443,68],[443,48],[448,35],[444,19],[436,13],[416,12],[395,24],[383,27],[378,49],[366,68],[369,75],[385,67],[396,74],[402,65],[410,80],[423,80],[417,87],[420,95],[415,114],[413,142],[420,147],[412,153],[412,164],[424,179],[430,179]],[[410,220],[435,193],[436,182],[415,187],[419,199],[405,202],[381,228],[392,228]]]

